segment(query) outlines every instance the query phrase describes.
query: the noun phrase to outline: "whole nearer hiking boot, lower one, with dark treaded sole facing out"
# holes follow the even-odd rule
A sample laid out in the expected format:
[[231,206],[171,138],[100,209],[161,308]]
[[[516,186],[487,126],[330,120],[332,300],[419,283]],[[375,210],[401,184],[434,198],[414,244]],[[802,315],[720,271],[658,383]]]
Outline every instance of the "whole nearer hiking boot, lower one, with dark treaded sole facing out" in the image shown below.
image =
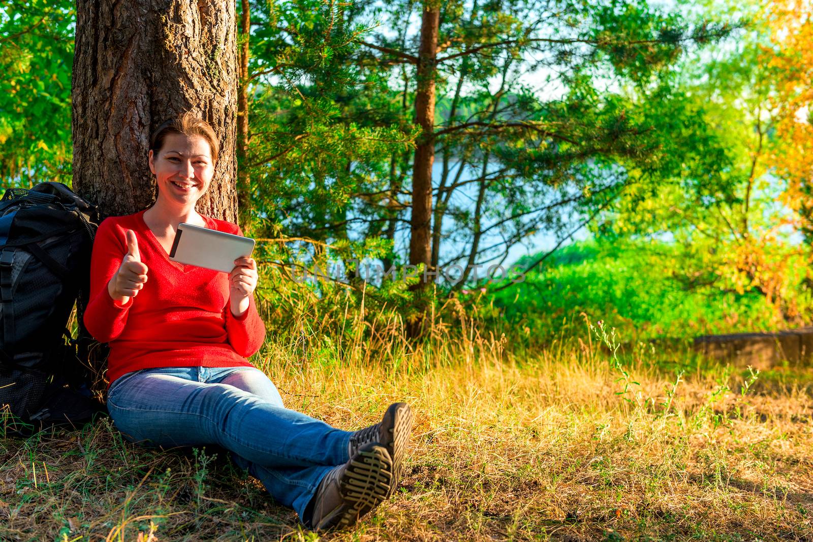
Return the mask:
[[315,531],[350,527],[384,501],[392,482],[393,462],[377,442],[359,448],[344,465],[324,476],[311,501],[305,523]]

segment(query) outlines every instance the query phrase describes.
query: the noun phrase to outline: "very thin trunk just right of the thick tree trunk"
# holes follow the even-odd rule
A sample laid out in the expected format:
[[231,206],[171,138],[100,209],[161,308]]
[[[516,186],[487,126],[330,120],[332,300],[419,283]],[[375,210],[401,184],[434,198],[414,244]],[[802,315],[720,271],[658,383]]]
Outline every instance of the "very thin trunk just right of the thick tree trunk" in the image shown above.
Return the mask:
[[251,183],[249,178],[249,37],[251,34],[251,11],[249,0],[241,0],[240,15],[240,63],[237,67],[237,209],[240,226],[245,231],[251,217]]

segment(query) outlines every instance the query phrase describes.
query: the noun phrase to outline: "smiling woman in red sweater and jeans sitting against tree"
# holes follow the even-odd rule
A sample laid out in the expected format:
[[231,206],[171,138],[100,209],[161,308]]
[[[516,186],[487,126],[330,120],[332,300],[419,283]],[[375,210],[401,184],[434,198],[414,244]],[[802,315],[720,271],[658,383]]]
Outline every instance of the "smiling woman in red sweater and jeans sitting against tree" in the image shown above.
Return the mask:
[[395,403],[357,432],[285,409],[246,360],[265,337],[256,262],[235,260],[227,276],[169,260],[180,222],[241,234],[195,211],[218,150],[214,130],[192,114],[164,123],[150,140],[155,203],[98,228],[84,321],[111,346],[108,410],[130,441],[220,445],[307,527],[346,527],[397,486],[410,408]]

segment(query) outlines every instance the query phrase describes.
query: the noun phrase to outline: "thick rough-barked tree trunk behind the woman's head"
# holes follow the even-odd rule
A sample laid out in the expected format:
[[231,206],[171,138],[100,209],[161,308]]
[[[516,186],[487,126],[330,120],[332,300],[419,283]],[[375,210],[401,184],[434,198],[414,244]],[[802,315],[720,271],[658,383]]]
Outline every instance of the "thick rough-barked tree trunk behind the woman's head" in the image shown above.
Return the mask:
[[192,110],[220,139],[198,212],[237,221],[236,32],[235,4],[226,0],[77,0],[73,186],[102,216],[152,204],[150,134]]

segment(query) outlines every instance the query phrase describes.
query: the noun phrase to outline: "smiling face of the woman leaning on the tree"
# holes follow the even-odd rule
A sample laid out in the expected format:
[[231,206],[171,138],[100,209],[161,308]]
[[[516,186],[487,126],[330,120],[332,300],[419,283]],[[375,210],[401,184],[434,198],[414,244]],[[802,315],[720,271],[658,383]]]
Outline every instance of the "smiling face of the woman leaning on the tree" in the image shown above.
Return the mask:
[[158,184],[159,199],[194,205],[206,193],[215,173],[209,142],[200,135],[167,134],[158,153],[150,150],[150,170]]

